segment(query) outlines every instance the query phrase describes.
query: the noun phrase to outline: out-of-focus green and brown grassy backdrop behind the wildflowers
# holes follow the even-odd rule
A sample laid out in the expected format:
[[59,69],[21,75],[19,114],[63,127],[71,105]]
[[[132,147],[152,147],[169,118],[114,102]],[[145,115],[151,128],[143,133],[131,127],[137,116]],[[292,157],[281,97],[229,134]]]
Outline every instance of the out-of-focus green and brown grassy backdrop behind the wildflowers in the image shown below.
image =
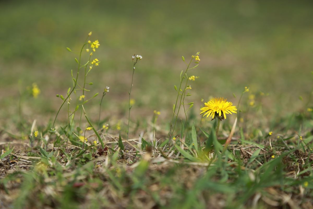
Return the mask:
[[[88,75],[94,85],[86,97],[110,86],[103,117],[125,116],[134,53],[143,59],[134,75],[133,118],[156,109],[169,121],[173,85],[185,69],[181,56],[189,60],[198,51],[201,62],[189,73],[200,76],[188,97],[196,102],[195,113],[201,98],[210,96],[237,105],[244,86],[249,93],[268,94],[261,100],[265,115],[301,110],[313,85],[312,6],[311,1],[251,0],[0,1],[1,123],[17,117],[19,89],[34,82],[41,94],[24,97],[23,115],[42,123],[54,117],[61,104],[55,95],[66,94],[70,71],[76,72],[78,56],[66,47],[79,51],[90,31],[90,40],[100,41],[94,58],[101,63]],[[99,100],[86,104],[95,118]],[[66,118],[66,108],[61,113],[60,119]]]

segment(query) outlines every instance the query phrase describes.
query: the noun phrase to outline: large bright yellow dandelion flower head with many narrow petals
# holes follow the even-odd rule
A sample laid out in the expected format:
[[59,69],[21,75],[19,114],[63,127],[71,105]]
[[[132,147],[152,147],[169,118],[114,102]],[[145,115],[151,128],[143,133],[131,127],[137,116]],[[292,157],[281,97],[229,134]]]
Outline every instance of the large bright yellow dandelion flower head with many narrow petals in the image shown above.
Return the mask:
[[[237,113],[236,106],[232,106],[232,102],[227,102],[227,99],[223,97],[213,98],[210,101],[204,103],[205,107],[202,107],[200,114],[204,113],[203,117],[207,115],[214,119],[215,114],[218,114],[221,119],[226,119],[226,114]],[[223,113],[223,114],[222,114]]]

